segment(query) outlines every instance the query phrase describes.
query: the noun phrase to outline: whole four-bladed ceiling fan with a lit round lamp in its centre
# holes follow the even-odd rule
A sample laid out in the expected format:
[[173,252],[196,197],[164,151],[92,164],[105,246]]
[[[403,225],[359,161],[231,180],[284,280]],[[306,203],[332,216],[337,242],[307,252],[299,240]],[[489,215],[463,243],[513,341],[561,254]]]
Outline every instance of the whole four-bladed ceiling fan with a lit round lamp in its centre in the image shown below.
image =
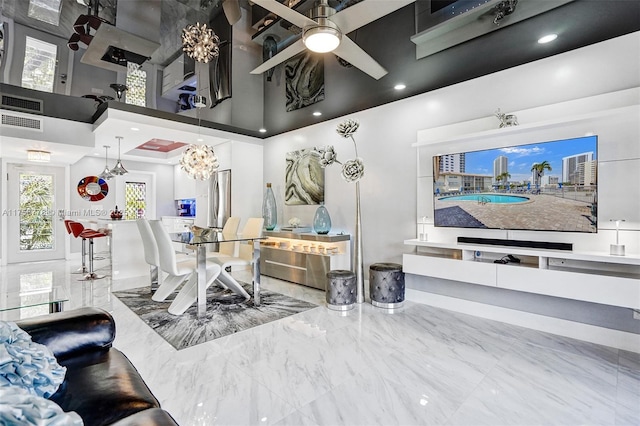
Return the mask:
[[252,0],[277,16],[302,28],[302,38],[251,71],[262,74],[287,59],[309,49],[314,52],[332,52],[371,77],[379,80],[385,70],[367,52],[362,50],[346,34],[357,30],[415,0],[362,0],[336,12],[328,0],[319,0],[307,17],[277,0]]

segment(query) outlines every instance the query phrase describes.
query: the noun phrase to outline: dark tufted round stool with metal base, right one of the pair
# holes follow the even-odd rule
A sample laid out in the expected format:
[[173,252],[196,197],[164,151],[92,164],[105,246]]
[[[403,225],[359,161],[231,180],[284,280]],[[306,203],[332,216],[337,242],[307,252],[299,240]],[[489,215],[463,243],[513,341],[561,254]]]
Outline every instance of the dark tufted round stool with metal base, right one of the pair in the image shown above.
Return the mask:
[[399,308],[404,302],[404,272],[398,263],[374,263],[369,267],[369,296],[378,308]]

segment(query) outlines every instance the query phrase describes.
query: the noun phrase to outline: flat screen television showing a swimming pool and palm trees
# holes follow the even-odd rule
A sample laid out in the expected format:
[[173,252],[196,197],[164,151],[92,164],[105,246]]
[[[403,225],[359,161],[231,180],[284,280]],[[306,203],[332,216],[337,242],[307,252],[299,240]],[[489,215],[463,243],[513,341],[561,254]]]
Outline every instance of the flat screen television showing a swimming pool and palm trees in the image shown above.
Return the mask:
[[433,157],[434,225],[595,233],[597,136]]

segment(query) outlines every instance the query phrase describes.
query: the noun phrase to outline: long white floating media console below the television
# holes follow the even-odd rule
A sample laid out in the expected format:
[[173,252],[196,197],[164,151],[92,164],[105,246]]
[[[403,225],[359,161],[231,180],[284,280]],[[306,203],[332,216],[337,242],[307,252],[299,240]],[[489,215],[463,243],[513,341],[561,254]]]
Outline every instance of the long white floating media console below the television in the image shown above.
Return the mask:
[[[405,273],[640,309],[640,257],[406,240]],[[511,254],[520,263],[494,260]]]

